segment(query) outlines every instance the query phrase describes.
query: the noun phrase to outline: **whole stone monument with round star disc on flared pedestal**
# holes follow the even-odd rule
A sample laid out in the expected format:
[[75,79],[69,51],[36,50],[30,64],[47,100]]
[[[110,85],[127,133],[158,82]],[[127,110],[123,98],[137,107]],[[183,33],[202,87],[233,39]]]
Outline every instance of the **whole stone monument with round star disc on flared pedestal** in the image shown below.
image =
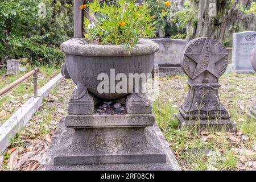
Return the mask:
[[181,68],[189,77],[189,92],[179,111],[179,126],[235,131],[236,123],[218,97],[218,78],[228,67],[228,52],[218,40],[197,38],[183,49]]

